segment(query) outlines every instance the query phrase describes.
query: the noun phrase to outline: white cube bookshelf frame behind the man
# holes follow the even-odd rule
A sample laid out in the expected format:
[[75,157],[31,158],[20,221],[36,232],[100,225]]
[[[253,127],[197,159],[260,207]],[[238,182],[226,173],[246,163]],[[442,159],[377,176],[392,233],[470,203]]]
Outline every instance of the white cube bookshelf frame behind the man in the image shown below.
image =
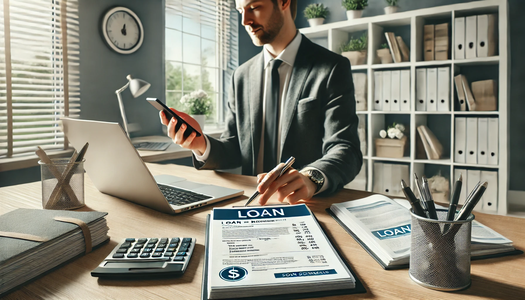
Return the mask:
[[[480,57],[471,59],[455,59],[454,58],[454,18],[456,16],[469,16],[480,14],[498,14],[498,56]],[[423,60],[423,25],[428,21],[429,24],[433,20],[439,20],[438,23],[449,23],[449,48],[450,59],[448,60]],[[379,49],[382,39],[384,40],[383,28],[391,27],[408,27],[410,28],[409,41],[403,37],[405,43],[410,48],[410,61],[393,64],[380,64],[376,57],[376,49]],[[507,209],[507,192],[509,188],[509,153],[508,153],[508,110],[509,110],[509,31],[508,31],[508,4],[506,0],[483,0],[468,3],[460,3],[453,5],[437,6],[431,8],[417,9],[415,11],[401,12],[390,15],[379,15],[373,17],[359,18],[354,20],[344,20],[341,22],[334,22],[323,24],[316,27],[301,28],[299,31],[312,39],[313,42],[318,43],[329,50],[340,53],[340,46],[342,43],[348,42],[348,39],[354,34],[358,37],[363,31],[368,34],[368,55],[367,64],[352,66],[352,70],[367,74],[367,110],[358,111],[358,115],[366,115],[366,134],[367,134],[367,153],[363,157],[367,165],[367,191],[372,190],[373,186],[373,162],[402,162],[409,165],[411,174],[411,182],[413,183],[413,174],[424,174],[426,164],[439,165],[440,168],[447,168],[450,172],[451,184],[454,179],[454,168],[474,168],[474,169],[496,169],[498,171],[498,214],[505,215],[508,213]],[[357,33],[357,34],[355,34]],[[409,42],[409,43],[407,43]],[[450,111],[416,111],[415,110],[415,78],[416,68],[419,67],[440,67],[450,66]],[[454,75],[457,75],[458,69],[464,66],[492,66],[497,68],[498,74],[498,111],[455,111],[455,86]],[[496,67],[495,67],[496,66]],[[375,111],[373,110],[374,97],[374,71],[383,69],[410,69],[411,70],[411,110],[410,111]],[[456,73],[456,74],[455,74]],[[487,78],[489,79],[489,78]],[[403,115],[403,118],[409,116],[409,131],[405,134],[409,137],[409,156],[399,159],[382,158],[375,156],[375,138],[379,137],[379,130],[385,128],[385,116],[390,114]],[[419,125],[426,125],[427,118],[432,118],[433,115],[446,115],[450,121],[450,157],[444,157],[440,160],[416,159],[416,127]],[[454,162],[454,118],[455,116],[494,116],[499,117],[499,164],[498,165],[484,165],[484,164],[468,164]],[[447,126],[448,128],[448,126]],[[432,128],[431,128],[432,129]],[[443,144],[448,142],[442,141]],[[434,174],[427,174],[432,176]],[[464,184],[466,184],[464,182]],[[451,190],[451,189],[450,189]]]

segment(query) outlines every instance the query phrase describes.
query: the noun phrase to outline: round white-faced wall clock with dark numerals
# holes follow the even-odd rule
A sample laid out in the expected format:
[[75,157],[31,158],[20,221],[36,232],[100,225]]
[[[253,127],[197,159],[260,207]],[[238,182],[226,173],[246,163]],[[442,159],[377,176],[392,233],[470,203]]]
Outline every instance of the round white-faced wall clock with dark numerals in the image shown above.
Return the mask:
[[102,34],[111,49],[120,54],[131,54],[142,45],[144,28],[137,14],[118,6],[104,14]]

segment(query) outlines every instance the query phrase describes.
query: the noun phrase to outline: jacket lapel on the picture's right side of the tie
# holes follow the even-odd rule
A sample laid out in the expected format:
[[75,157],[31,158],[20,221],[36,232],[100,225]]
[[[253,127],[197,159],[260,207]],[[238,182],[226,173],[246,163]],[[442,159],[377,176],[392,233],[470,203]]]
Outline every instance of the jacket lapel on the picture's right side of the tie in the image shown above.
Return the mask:
[[[310,59],[311,55],[311,44],[310,40],[306,36],[302,36],[301,45],[297,51],[296,60],[293,63],[292,74],[290,77],[290,84],[288,85],[288,92],[286,95],[285,106],[282,110],[281,118],[281,153],[285,145],[286,136],[290,129],[293,116],[297,107],[297,101],[302,94],[304,82],[312,69],[313,60]],[[288,159],[288,158],[285,158]],[[282,157],[281,157],[282,160]]]

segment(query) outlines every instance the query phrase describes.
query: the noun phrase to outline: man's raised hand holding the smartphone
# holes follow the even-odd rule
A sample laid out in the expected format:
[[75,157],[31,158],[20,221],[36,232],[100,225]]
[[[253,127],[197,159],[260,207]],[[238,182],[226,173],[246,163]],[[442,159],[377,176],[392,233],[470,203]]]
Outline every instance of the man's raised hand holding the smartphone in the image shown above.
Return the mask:
[[[190,124],[193,128],[202,132],[201,126],[198,125],[197,121],[194,118],[190,117],[187,113],[177,111],[173,107],[170,107],[178,116],[180,116],[184,121]],[[169,136],[174,143],[180,145],[182,148],[197,150],[201,152],[201,155],[206,151],[206,140],[204,136],[195,137],[196,133],[193,131],[190,136],[187,138],[184,137],[184,131],[186,131],[187,126],[185,124],[181,125],[181,128],[175,132],[175,125],[177,125],[177,119],[172,117],[171,120],[166,118],[164,111],[160,111],[159,115],[161,117],[161,123],[167,126],[167,136]]]

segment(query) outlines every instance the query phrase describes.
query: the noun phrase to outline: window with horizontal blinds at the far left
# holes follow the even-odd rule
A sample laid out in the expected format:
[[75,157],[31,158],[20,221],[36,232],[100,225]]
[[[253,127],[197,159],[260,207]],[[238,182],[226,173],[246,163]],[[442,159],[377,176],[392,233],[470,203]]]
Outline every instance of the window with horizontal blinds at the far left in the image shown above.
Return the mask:
[[0,5],[0,158],[68,148],[59,119],[80,112],[78,30],[77,0]]

